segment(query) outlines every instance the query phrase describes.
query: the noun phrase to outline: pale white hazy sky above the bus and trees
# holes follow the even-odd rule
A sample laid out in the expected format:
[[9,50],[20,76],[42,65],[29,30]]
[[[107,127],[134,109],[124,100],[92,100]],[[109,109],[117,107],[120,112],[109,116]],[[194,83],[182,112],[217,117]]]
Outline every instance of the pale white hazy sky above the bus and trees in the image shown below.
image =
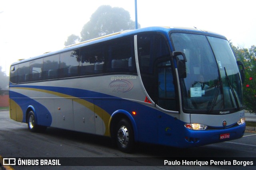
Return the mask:
[[[135,0],[0,0],[0,66],[64,48],[71,34],[101,5],[124,8],[135,21]],[[197,27],[224,35],[233,45],[256,45],[252,0],[137,0],[141,27]]]

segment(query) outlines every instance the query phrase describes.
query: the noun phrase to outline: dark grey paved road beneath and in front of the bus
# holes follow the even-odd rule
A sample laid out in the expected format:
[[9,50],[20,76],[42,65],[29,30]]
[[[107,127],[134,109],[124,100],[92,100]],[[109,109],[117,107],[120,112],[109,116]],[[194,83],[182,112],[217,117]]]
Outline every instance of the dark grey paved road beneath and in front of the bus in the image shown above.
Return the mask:
[[[13,121],[8,111],[0,111],[0,155],[3,158],[54,158],[65,157],[72,159],[75,165],[83,163],[102,163],[108,161],[112,165],[131,166],[13,166],[15,170],[74,170],[74,169],[181,169],[197,170],[198,166],[164,166],[165,159],[184,160],[196,158],[212,158],[218,160],[236,159],[245,157],[245,160],[256,158],[256,133],[245,133],[244,137],[234,141],[206,145],[190,149],[177,149],[172,147],[142,145],[132,154],[120,152],[111,145],[105,137],[76,133],[56,128],[48,128],[45,133],[31,133],[26,123]],[[75,157],[86,157],[76,162]],[[248,158],[250,157],[250,158]],[[92,158],[92,159],[88,159]],[[98,159],[97,159],[98,158]],[[104,160],[107,158],[107,160]],[[97,162],[98,161],[98,162]],[[159,161],[162,166],[159,166]],[[103,162],[104,163],[104,162]],[[106,162],[105,162],[106,163]],[[148,166],[153,164],[153,166]],[[256,164],[256,160],[254,161]],[[248,166],[246,169],[255,169]],[[232,169],[240,170],[244,166],[204,166],[203,169]]]

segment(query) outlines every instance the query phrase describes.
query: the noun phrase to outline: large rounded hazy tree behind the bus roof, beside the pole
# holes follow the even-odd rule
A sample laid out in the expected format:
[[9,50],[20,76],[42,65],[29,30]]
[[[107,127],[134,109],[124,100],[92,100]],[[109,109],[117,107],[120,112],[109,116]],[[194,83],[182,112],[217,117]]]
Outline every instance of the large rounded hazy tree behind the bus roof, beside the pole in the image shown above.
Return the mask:
[[[138,24],[138,27],[140,25]],[[100,6],[82,28],[81,41],[93,39],[118,31],[134,29],[135,22],[123,8],[103,5]]]

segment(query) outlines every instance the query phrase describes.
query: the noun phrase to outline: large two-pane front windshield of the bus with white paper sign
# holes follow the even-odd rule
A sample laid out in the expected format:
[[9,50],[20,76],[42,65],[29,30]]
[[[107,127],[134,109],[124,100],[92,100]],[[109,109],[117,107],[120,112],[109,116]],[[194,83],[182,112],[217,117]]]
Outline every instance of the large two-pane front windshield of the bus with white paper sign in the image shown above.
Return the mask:
[[187,59],[186,78],[180,78],[184,111],[228,114],[242,107],[242,82],[226,39],[189,33],[170,38]]

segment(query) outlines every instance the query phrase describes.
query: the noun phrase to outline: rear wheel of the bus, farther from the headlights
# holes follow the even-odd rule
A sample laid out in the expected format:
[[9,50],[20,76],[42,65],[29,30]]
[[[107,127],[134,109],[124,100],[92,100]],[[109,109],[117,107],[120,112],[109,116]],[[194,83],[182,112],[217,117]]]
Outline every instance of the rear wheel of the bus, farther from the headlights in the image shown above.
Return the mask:
[[28,129],[31,132],[44,132],[46,130],[46,126],[40,126],[36,124],[36,117],[34,111],[29,111],[28,113]]

